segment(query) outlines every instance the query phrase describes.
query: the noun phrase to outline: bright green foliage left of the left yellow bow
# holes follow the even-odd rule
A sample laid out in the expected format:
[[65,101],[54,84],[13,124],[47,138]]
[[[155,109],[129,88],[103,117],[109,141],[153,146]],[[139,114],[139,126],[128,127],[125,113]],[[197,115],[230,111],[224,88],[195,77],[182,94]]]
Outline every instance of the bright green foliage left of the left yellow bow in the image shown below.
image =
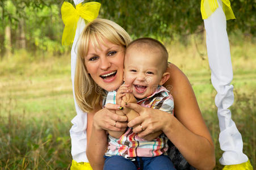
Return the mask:
[[[62,2],[1,1],[0,11],[3,22],[0,23],[2,28],[0,37],[5,36],[6,25],[11,25],[12,51],[19,49],[20,26],[23,24],[27,50],[40,50],[54,55],[68,52],[69,47],[60,43],[64,28],[60,15]],[[21,22],[22,19],[25,20],[24,23]]]

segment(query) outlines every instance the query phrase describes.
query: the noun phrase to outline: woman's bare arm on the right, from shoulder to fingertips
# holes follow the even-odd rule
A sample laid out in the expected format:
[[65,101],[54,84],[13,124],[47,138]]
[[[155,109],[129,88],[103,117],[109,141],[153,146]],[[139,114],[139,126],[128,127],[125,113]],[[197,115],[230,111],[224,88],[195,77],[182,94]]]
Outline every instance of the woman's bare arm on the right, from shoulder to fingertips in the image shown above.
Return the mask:
[[212,138],[191,84],[177,66],[170,64],[167,71],[170,73],[170,79],[165,86],[174,97],[175,117],[160,110],[128,104],[127,107],[135,109],[141,115],[130,121],[128,126],[142,124],[144,131],[141,132],[141,128],[133,129],[137,133],[141,132],[140,137],[162,130],[188,163],[198,169],[213,169],[215,152]]

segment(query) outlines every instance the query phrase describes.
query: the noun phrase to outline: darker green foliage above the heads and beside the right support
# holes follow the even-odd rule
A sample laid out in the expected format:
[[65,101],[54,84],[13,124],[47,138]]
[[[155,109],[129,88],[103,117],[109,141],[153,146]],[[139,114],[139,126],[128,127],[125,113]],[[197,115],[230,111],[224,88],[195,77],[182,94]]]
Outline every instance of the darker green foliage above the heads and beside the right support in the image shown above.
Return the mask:
[[[131,35],[159,36],[188,35],[203,30],[200,1],[99,1],[102,3],[100,16],[119,23]],[[237,19],[229,24],[228,30],[240,29],[255,35],[255,3],[231,1]]]

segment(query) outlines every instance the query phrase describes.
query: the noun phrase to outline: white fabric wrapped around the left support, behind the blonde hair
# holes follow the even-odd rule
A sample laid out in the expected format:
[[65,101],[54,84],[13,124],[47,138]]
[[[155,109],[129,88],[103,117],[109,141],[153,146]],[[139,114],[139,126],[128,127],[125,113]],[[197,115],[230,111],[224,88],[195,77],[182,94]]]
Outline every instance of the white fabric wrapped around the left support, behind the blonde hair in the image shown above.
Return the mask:
[[[74,0],[75,5],[83,2],[83,0]],[[77,30],[75,31],[74,42],[71,50],[71,79],[73,86],[73,96],[74,96],[74,75],[75,75],[75,65],[77,59],[77,40],[79,35],[85,28],[85,21],[82,18],[79,18],[77,23]],[[77,111],[77,116],[71,121],[73,126],[70,129],[71,137],[71,154],[73,159],[76,162],[89,162],[86,156],[86,146],[87,146],[87,137],[86,137],[86,128],[87,128],[87,113],[82,112],[78,107],[77,102],[75,101],[75,110]]]

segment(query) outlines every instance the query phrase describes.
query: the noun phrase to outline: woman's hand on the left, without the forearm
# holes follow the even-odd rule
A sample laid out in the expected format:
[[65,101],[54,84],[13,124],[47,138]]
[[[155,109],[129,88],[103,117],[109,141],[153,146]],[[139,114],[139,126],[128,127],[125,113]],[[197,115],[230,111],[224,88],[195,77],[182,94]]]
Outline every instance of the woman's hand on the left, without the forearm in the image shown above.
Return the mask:
[[96,129],[123,131],[127,128],[127,117],[116,114],[120,105],[106,104],[105,108],[95,113],[93,121]]

